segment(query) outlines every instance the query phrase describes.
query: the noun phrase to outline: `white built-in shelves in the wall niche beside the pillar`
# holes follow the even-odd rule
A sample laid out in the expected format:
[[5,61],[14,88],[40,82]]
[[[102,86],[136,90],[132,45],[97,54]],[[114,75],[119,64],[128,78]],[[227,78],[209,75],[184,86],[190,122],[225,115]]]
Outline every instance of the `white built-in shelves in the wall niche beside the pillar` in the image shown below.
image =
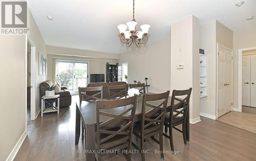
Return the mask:
[[207,56],[200,54],[200,98],[207,97]]

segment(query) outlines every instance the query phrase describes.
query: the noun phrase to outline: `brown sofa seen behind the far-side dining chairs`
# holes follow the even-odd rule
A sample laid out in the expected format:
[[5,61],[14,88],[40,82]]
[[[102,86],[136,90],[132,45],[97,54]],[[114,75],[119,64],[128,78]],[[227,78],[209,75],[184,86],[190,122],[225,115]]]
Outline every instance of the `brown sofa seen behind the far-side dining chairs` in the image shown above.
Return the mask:
[[[116,86],[116,85],[127,85],[126,82],[102,82],[102,83],[90,83],[88,84],[87,87],[98,87],[98,86],[102,86],[103,89],[103,99],[108,99],[109,98],[109,91],[108,91],[108,86]],[[128,90],[128,85],[127,85],[127,90]],[[88,95],[93,95],[96,94],[96,92],[87,92]]]

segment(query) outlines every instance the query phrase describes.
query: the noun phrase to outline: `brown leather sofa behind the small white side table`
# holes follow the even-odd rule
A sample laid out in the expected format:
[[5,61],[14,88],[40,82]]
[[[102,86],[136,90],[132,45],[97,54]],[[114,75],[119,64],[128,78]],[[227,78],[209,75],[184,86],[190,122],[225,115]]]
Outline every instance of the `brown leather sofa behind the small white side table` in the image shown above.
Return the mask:
[[[42,96],[45,95],[46,93],[46,87],[51,87],[53,86],[53,83],[51,81],[45,81],[40,83],[39,85],[39,89],[40,89],[40,98]],[[58,92],[55,94],[59,94],[59,107],[65,107],[65,106],[70,106],[71,105],[71,94],[70,92],[67,90],[66,87],[61,87],[61,90],[63,90],[63,92]]]

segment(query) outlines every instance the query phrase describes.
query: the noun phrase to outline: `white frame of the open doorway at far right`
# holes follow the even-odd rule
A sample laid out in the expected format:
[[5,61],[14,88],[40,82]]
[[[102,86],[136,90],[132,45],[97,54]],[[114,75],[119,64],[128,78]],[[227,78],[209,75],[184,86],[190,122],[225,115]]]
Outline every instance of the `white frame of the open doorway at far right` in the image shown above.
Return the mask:
[[233,111],[242,112],[242,56],[243,56],[243,51],[254,50],[254,49],[256,49],[256,46],[238,49],[238,109],[233,108]]

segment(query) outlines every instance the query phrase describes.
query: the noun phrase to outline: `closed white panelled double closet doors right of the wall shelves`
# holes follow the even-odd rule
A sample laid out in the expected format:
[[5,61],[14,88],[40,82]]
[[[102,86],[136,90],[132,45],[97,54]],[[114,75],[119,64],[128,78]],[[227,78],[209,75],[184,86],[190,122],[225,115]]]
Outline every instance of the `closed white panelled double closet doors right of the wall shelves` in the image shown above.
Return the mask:
[[232,108],[232,51],[218,44],[218,117]]

